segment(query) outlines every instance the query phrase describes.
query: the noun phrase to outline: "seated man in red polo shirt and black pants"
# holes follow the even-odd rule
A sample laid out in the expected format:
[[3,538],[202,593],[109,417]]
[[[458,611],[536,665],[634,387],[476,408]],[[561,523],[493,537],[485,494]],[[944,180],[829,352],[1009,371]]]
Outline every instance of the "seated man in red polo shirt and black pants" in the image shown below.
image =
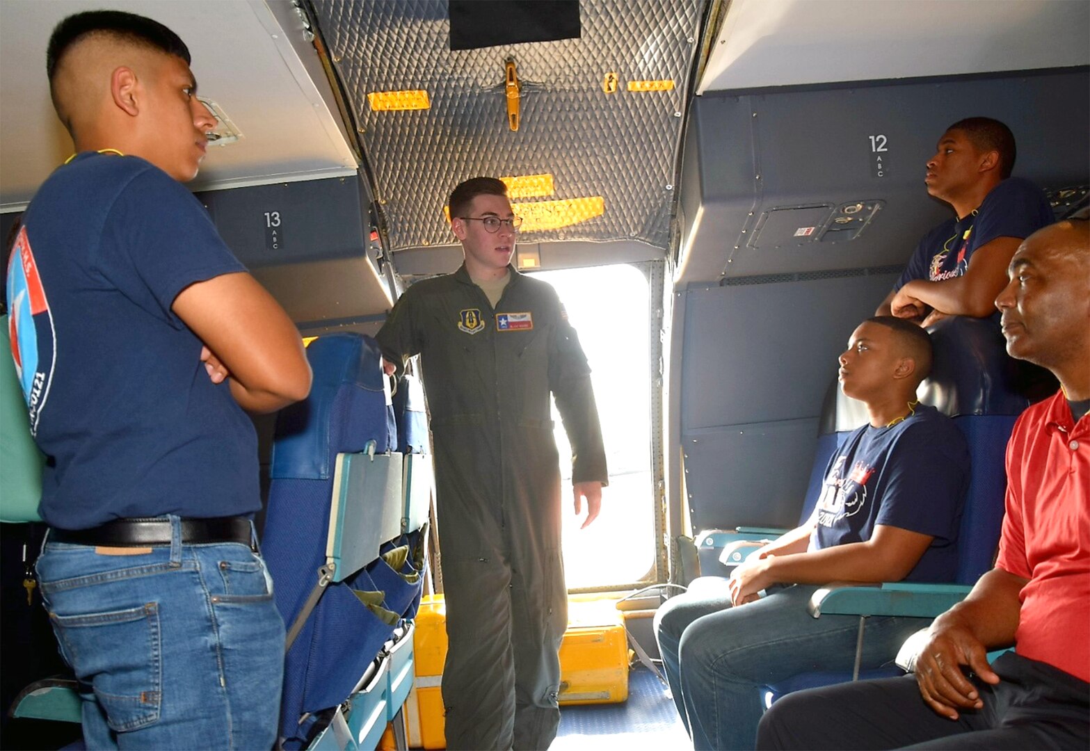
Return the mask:
[[[1090,747],[1090,230],[1032,234],[995,304],[1007,352],[1061,391],[1018,419],[995,568],[935,619],[911,676],[801,691],[758,748]],[[992,665],[989,650],[1015,645]],[[923,702],[920,701],[923,698]]]

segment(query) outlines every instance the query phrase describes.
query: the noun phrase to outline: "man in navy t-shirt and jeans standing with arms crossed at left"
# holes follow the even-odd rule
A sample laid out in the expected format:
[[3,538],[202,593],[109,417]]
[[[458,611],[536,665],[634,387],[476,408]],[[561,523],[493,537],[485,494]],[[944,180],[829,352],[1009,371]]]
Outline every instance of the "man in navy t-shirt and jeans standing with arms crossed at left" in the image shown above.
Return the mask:
[[250,516],[243,410],[306,396],[283,310],[181,182],[215,126],[185,45],[113,11],[62,21],[53,105],[76,154],[9,267],[12,354],[49,457],[37,562],[88,748],[270,748],[283,622]]

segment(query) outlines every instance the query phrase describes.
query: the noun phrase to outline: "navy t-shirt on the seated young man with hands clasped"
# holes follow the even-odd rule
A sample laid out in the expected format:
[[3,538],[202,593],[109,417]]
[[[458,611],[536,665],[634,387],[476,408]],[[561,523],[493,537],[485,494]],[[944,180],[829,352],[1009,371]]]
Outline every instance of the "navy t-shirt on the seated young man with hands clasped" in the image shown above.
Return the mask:
[[892,427],[853,431],[829,460],[810,549],[864,542],[875,524],[932,535],[905,581],[952,581],[969,486],[961,431],[933,407]]

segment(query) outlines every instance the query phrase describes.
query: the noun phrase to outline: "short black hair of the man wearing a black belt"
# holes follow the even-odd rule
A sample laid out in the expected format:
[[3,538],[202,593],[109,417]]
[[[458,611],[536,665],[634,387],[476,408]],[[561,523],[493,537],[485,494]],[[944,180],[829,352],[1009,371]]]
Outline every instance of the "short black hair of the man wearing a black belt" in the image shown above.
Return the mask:
[[50,84],[64,53],[92,35],[111,36],[119,41],[173,54],[184,60],[186,65],[192,62],[190,48],[181,37],[158,21],[122,11],[86,11],[61,21],[49,37],[46,74]]

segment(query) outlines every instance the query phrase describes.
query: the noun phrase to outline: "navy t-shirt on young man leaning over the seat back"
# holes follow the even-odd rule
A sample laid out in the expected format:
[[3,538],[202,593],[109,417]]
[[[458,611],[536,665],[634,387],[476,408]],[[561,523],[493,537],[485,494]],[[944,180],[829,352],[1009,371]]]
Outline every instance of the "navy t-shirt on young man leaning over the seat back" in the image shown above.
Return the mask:
[[942,281],[965,274],[978,247],[996,238],[1025,239],[1054,221],[1044,192],[1021,178],[1007,178],[969,216],[948,219],[923,235],[894,290],[912,281]]

